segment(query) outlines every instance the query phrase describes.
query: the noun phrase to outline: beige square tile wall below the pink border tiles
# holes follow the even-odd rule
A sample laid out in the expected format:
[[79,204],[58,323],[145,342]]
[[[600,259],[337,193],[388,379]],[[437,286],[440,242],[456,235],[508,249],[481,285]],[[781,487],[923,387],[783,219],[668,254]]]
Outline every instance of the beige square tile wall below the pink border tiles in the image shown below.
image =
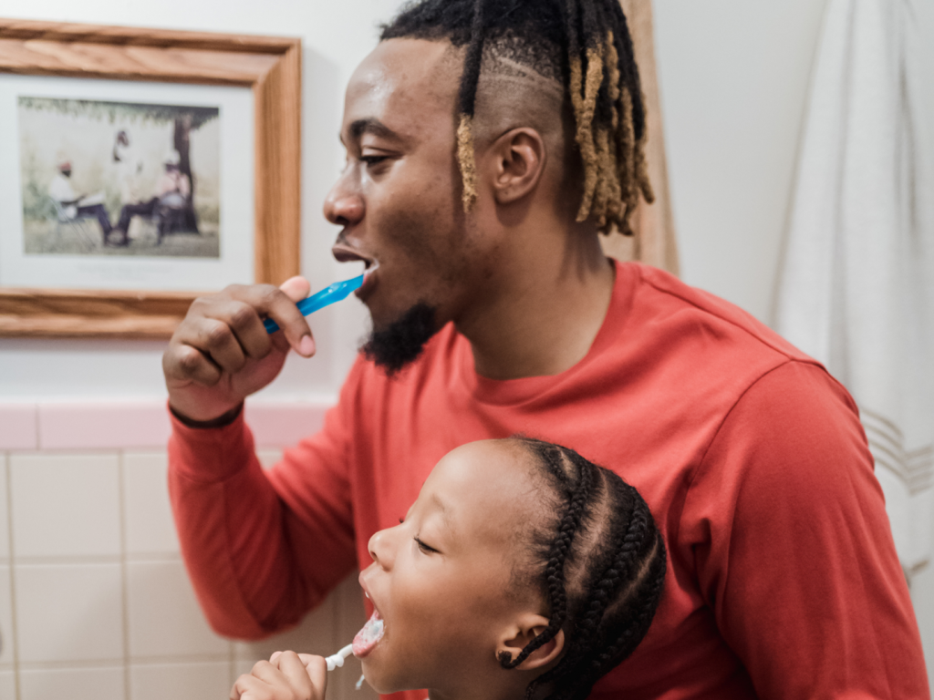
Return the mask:
[[[262,452],[264,464],[277,450]],[[330,654],[363,623],[356,577],[260,642],[210,630],[178,554],[163,452],[0,453],[0,700],[223,700],[273,651]],[[333,700],[370,700],[360,665]]]

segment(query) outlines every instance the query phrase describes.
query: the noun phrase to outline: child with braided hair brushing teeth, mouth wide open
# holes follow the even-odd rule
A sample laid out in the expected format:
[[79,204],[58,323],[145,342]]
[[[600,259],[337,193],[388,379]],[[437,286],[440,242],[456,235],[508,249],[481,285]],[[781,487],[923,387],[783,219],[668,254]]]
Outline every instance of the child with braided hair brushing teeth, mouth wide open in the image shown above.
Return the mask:
[[[638,492],[527,438],[448,453],[369,548],[363,675],[378,693],[445,700],[582,700],[642,640],[665,576]],[[231,698],[323,700],[325,685],[321,657],[276,652]]]

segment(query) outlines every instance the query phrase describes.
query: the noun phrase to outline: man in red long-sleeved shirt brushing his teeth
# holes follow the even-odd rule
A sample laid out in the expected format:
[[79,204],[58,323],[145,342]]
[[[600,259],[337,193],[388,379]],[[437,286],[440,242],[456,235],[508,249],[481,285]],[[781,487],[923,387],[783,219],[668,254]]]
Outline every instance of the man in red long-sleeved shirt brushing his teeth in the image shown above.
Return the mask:
[[314,352],[304,280],[196,301],[166,351],[170,487],[208,619],[295,623],[441,455],[524,432],[618,471],[666,538],[655,622],[593,696],[927,698],[852,399],[729,303],[601,254],[598,231],[651,196],[615,0],[493,5],[406,8],[347,87],[324,211],[335,257],[378,262],[358,293],[374,331],[322,431],[264,473],[241,417],[290,348]]

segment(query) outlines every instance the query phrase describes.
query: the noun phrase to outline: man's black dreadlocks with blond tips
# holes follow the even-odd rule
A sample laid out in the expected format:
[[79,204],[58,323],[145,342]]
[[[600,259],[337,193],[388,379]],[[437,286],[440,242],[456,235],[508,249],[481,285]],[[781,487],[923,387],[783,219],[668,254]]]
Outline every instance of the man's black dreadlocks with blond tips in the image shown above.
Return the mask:
[[382,27],[381,40],[447,39],[466,46],[458,95],[458,162],[464,211],[476,199],[474,111],[484,56],[503,42],[525,47],[521,63],[559,65],[573,105],[574,138],[584,165],[577,220],[631,234],[642,195],[655,196],[645,166],[645,110],[632,39],[619,0],[417,0]]

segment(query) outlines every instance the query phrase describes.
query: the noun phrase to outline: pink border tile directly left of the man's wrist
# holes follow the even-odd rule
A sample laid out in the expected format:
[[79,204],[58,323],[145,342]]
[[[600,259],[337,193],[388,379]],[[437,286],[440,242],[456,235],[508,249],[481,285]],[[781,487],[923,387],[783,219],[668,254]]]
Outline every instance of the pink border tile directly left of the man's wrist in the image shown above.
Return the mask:
[[38,407],[43,450],[162,447],[169,438],[163,400],[44,403]]

